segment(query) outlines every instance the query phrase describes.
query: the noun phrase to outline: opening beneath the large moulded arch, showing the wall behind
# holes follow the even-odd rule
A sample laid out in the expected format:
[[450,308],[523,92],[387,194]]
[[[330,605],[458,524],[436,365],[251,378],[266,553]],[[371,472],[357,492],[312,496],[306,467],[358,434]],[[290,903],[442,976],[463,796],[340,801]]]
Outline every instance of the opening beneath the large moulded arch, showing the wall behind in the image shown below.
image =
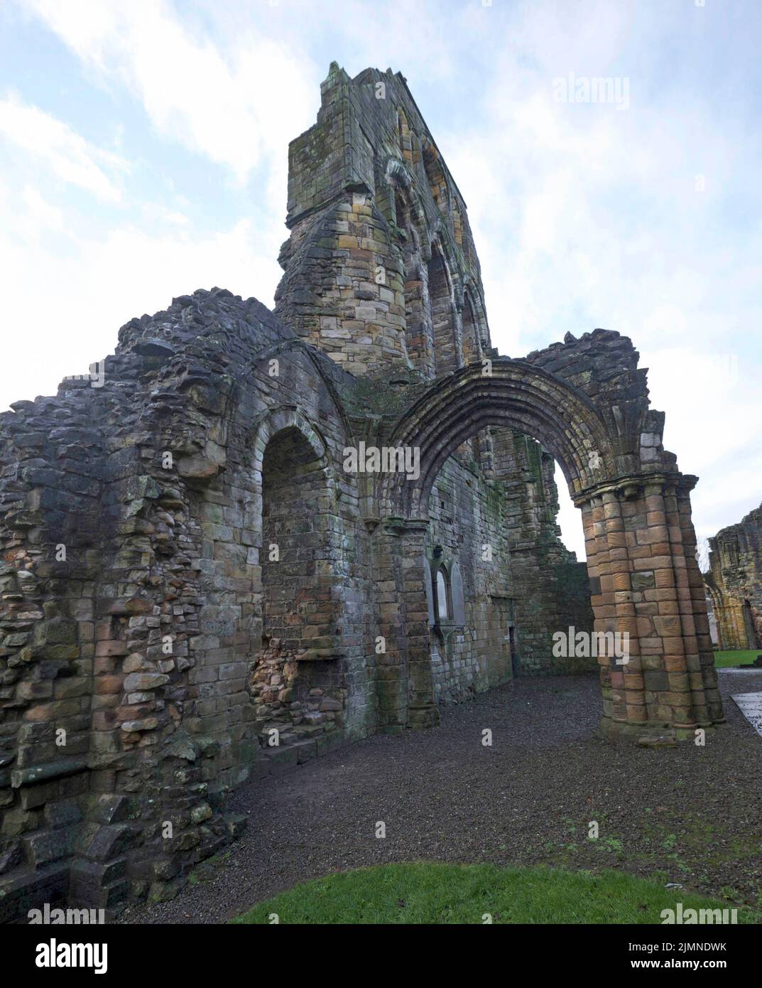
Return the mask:
[[[487,441],[489,456],[482,455]],[[437,699],[462,700],[472,688],[498,686],[519,669],[597,671],[589,651],[554,652],[557,632],[566,636],[570,626],[574,633],[594,629],[584,554],[581,560],[574,557],[558,523],[560,495],[569,499],[569,494],[565,482],[561,491],[557,487],[554,457],[536,440],[506,427],[490,426],[470,442],[479,460],[466,462],[463,445],[456,448],[442,464],[426,506]],[[489,470],[482,460],[491,464]],[[581,535],[580,512],[572,510]],[[452,603],[443,619],[445,601]]]

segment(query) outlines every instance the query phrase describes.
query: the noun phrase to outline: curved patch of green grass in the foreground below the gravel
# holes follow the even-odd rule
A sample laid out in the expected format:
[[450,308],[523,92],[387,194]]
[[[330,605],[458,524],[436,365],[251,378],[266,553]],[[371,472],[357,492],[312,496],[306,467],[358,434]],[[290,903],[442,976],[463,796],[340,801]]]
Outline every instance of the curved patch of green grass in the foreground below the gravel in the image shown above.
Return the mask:
[[[495,864],[380,864],[327,875],[261,902],[233,923],[660,923],[662,909],[731,908],[620,871]],[[738,923],[755,916],[738,909]]]

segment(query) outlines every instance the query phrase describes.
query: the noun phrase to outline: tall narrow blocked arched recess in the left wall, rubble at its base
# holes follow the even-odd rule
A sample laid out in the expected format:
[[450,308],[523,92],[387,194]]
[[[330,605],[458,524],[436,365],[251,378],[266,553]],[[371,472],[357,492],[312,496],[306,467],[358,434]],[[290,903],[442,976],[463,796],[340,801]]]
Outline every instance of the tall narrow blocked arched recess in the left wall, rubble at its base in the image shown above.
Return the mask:
[[293,408],[269,413],[254,449],[262,604],[250,632],[249,689],[255,729],[267,750],[272,729],[284,735],[282,748],[299,740],[307,718],[310,727],[322,723],[321,703],[342,709],[343,665],[334,661],[342,658],[342,540],[333,525],[338,498],[330,453],[304,416]]

